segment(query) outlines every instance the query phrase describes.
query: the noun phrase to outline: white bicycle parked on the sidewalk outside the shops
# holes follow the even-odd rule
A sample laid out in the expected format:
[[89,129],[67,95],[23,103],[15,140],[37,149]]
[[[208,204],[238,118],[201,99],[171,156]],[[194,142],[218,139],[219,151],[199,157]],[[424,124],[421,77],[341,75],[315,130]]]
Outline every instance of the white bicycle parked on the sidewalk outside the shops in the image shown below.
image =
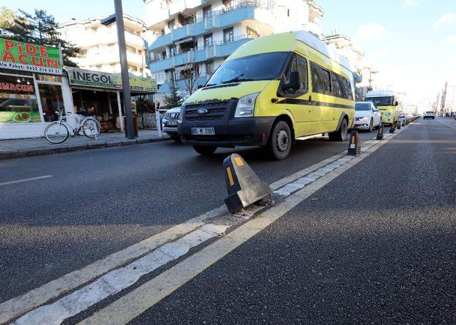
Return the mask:
[[[82,132],[87,138],[94,139],[100,134],[101,125],[98,120],[95,120],[95,118],[86,117],[76,113],[66,113],[65,115],[63,110],[56,111],[56,114],[58,115],[58,120],[49,124],[46,126],[46,129],[44,129],[44,136],[50,143],[63,143],[66,139],[68,139],[70,130],[73,133],[71,134],[72,137],[81,135]],[[68,115],[75,115],[76,123],[78,125],[77,128],[73,128],[67,123],[66,120]]]

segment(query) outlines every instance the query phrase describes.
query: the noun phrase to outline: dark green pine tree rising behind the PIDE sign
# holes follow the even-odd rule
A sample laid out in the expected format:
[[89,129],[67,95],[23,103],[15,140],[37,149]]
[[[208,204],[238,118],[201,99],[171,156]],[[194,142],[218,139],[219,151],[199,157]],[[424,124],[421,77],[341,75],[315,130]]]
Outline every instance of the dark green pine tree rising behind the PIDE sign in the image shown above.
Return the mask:
[[37,43],[44,46],[62,46],[63,65],[77,66],[71,61],[76,56],[78,48],[63,40],[58,32],[58,24],[52,15],[44,10],[35,9],[34,15],[20,10],[21,15],[16,16],[12,26],[6,26],[4,31],[9,38],[27,43]]

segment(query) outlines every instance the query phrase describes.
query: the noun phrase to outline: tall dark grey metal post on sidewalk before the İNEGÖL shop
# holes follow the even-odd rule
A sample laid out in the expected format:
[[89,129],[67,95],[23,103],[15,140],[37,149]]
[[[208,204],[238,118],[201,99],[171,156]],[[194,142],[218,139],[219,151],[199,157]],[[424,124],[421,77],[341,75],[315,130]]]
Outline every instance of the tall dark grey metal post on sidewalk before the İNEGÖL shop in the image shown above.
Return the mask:
[[133,112],[131,110],[130,79],[128,76],[127,50],[125,48],[125,29],[123,27],[122,0],[114,0],[115,24],[117,25],[117,35],[120,55],[120,71],[122,73],[123,88],[123,107],[125,108],[125,120],[127,128],[127,138],[134,139]]

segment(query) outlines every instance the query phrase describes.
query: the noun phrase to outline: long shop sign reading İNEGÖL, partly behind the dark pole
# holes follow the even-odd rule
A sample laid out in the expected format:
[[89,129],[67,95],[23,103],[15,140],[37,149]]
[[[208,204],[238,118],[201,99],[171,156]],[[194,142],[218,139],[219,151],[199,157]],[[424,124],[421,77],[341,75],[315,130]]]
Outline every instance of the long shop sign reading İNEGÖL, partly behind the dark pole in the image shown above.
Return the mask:
[[[119,74],[70,67],[66,67],[66,70],[68,71],[68,78],[71,85],[122,89],[122,76]],[[157,81],[152,78],[130,76],[130,89],[132,91],[156,93]]]

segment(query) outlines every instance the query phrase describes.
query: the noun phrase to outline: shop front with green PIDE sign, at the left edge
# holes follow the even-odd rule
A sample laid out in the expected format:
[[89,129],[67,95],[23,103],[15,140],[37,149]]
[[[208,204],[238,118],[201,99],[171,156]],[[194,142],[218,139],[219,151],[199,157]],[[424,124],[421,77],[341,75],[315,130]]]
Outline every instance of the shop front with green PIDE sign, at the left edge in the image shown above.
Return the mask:
[[73,109],[59,49],[0,38],[0,139],[42,137],[59,109]]

